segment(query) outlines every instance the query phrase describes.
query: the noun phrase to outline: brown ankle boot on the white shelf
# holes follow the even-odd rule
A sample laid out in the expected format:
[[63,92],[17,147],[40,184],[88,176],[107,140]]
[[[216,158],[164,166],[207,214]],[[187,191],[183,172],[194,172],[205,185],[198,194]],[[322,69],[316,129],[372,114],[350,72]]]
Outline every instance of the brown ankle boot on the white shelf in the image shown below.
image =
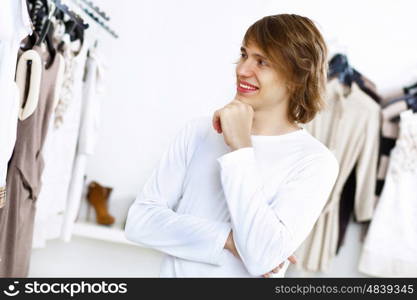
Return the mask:
[[92,181],[88,186],[87,200],[94,207],[98,224],[111,225],[115,221],[107,207],[112,190],[113,188],[104,187],[96,181]]

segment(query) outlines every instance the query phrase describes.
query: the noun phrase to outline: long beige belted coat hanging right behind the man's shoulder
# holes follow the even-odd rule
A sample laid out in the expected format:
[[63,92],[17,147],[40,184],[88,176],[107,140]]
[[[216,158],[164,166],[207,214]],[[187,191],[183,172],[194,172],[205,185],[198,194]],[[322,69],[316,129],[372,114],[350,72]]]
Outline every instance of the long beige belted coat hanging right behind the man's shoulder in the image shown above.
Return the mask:
[[340,165],[339,176],[326,206],[310,235],[295,253],[298,269],[325,272],[336,255],[340,194],[356,163],[355,217],[360,222],[372,217],[380,107],[356,84],[346,91],[337,79],[333,79],[327,86],[326,108],[305,128],[334,153]]

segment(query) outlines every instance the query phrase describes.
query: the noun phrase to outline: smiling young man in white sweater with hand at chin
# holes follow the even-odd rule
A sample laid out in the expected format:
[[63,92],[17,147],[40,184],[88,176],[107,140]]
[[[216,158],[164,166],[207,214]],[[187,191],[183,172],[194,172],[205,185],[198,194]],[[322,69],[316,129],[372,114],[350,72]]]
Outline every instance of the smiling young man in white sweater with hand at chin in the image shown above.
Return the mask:
[[322,106],[326,53],[305,17],[248,29],[235,99],[185,126],[129,210],[127,238],[167,254],[160,276],[284,276],[338,174],[299,127]]

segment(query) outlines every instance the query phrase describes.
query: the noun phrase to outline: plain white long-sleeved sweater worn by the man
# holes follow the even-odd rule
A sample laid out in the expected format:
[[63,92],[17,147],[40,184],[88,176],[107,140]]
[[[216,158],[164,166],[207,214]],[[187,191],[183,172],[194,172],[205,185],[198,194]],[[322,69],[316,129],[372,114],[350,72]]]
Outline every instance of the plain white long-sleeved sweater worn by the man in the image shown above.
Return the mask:
[[[259,277],[294,253],[338,174],[304,129],[230,152],[211,117],[190,121],[129,210],[126,237],[166,253],[161,277]],[[224,249],[233,231],[238,259]]]

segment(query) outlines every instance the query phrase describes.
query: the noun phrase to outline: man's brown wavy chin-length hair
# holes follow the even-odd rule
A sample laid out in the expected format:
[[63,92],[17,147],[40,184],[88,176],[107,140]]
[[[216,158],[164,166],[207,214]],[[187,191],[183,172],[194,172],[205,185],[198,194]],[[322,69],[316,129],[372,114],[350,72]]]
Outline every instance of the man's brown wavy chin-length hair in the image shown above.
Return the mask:
[[294,14],[267,16],[248,28],[243,45],[254,43],[284,74],[288,119],[307,123],[324,106],[327,46],[313,21]]

